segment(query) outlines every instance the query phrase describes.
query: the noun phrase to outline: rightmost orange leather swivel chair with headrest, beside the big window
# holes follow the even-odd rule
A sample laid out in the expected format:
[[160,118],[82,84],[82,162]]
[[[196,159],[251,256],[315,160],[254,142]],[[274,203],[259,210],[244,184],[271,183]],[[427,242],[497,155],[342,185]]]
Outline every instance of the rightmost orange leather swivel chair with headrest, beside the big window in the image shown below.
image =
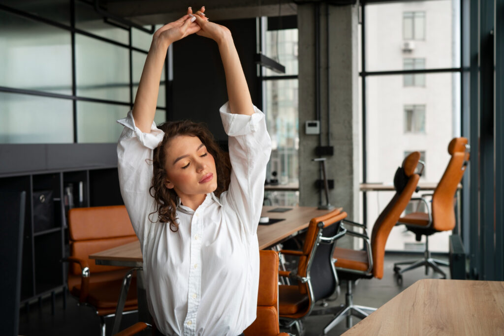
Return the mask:
[[[429,236],[440,231],[450,231],[455,228],[455,193],[457,186],[462,180],[462,176],[469,162],[470,147],[466,138],[454,138],[448,145],[448,153],[452,156],[445,173],[437,184],[432,196],[431,209],[424,197],[412,198],[412,200],[423,201],[426,205],[427,213],[413,212],[399,219],[401,224],[406,224],[406,228],[416,234],[416,240],[420,241],[422,235],[425,236],[424,258],[420,260],[410,260],[396,262],[394,272],[397,275],[398,283],[402,283],[402,274],[413,268],[425,266],[425,275],[431,267],[434,272],[440,273],[446,279],[446,274],[439,266],[449,266],[446,261],[433,259],[429,252]],[[425,194],[424,196],[427,196]],[[399,265],[408,265],[399,268]]]

